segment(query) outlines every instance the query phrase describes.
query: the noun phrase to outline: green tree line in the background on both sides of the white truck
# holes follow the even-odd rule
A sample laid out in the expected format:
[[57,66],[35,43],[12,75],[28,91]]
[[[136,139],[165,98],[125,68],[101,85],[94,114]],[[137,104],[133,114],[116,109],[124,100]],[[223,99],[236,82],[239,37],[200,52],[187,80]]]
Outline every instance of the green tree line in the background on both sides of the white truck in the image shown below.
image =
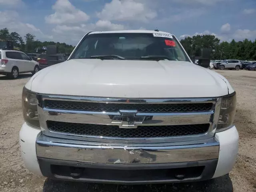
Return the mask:
[[[0,39],[8,39],[14,42],[14,46],[20,48],[26,53],[33,53],[35,49],[41,49],[48,45],[56,45],[59,53],[71,53],[74,46],[66,43],[35,40],[36,36],[27,33],[20,36],[17,32],[9,32],[7,28],[0,30]],[[256,39],[254,42],[245,39],[236,42],[234,39],[231,42],[220,42],[214,35],[197,35],[186,37],[180,40],[180,43],[186,50],[189,56],[195,55],[200,48],[212,48],[211,60],[238,59],[238,60],[256,60]]]

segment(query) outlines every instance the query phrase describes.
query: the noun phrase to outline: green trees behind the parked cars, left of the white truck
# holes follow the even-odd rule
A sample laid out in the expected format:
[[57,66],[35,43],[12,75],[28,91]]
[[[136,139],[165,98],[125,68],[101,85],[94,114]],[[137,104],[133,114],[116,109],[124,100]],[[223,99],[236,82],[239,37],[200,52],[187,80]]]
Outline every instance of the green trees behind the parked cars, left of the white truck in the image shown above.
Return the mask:
[[41,42],[39,40],[35,40],[35,38],[36,36],[34,36],[33,34],[27,33],[24,36],[24,42],[22,36],[20,36],[20,34],[18,34],[17,32],[10,33],[7,28],[3,28],[0,30],[0,39],[12,40],[15,47],[20,48],[26,53],[34,53],[36,48],[40,50],[42,47],[47,47],[48,45],[56,45],[59,53],[71,53],[74,49],[74,46],[68,45],[66,43],[53,41]]

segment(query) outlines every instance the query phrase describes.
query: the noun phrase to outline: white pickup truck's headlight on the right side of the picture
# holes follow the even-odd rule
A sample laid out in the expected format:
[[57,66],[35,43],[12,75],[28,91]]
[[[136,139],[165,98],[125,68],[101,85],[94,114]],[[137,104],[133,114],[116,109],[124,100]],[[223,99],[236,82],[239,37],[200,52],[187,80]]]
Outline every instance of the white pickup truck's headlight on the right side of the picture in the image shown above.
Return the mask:
[[220,116],[216,132],[221,132],[232,126],[236,114],[236,92],[222,97]]

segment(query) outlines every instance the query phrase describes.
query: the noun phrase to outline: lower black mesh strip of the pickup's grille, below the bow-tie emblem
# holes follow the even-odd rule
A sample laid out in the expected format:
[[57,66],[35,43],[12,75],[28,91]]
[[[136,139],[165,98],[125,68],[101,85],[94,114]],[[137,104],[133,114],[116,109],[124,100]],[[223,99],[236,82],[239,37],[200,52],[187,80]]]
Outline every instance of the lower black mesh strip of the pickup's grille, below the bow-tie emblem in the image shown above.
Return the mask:
[[203,134],[208,131],[209,124],[173,125],[173,126],[138,126],[136,129],[123,129],[115,125],[80,124],[47,121],[51,131],[68,134],[123,137],[152,138]]

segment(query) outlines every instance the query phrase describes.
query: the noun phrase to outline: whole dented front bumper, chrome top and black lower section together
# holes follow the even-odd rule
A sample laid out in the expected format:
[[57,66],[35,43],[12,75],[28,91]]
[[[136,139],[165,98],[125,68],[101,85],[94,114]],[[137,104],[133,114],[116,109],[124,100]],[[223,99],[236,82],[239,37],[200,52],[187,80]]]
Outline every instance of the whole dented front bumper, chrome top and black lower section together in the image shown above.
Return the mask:
[[146,184],[207,180],[219,157],[215,138],[160,144],[115,144],[41,135],[36,154],[42,174],[58,180]]

